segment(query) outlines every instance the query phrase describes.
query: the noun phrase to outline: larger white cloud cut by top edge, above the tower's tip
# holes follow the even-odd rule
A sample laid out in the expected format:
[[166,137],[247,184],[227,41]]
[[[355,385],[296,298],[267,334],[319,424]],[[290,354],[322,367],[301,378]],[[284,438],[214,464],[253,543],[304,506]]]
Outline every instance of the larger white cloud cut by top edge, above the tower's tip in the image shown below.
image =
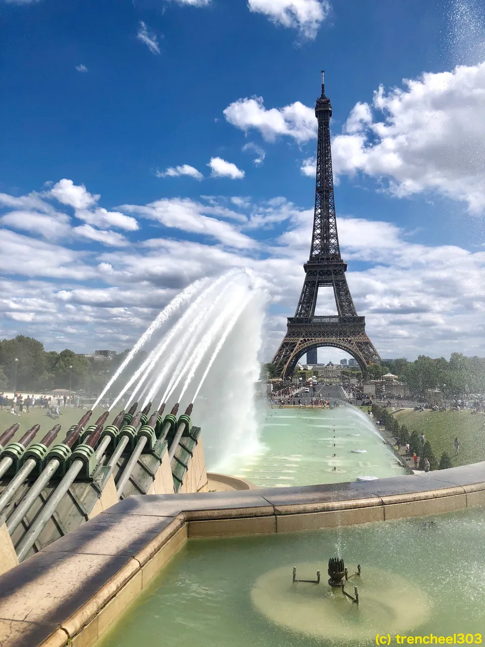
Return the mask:
[[328,0],[248,0],[248,6],[274,23],[298,29],[307,38],[315,38],[330,11]]

